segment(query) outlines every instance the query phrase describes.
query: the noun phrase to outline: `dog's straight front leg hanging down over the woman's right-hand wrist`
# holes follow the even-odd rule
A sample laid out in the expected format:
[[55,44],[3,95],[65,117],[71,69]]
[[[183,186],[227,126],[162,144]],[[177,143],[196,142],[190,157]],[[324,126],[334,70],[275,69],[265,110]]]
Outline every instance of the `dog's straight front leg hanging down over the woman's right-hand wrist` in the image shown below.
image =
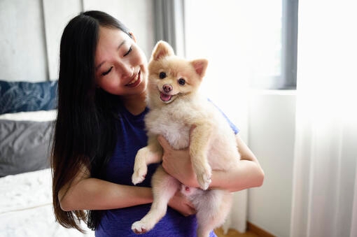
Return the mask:
[[201,189],[208,189],[211,183],[212,169],[209,165],[207,152],[211,139],[212,124],[202,121],[196,124],[190,135],[190,157],[193,170]]

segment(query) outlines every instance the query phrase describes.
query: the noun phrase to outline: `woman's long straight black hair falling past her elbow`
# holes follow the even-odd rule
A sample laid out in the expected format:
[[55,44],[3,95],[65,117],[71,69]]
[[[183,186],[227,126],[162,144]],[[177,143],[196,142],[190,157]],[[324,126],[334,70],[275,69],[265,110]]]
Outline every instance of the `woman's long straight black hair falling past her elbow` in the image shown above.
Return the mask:
[[52,196],[56,220],[76,228],[77,220],[90,229],[99,224],[101,211],[64,211],[59,205],[59,190],[70,184],[83,170],[92,178],[105,179],[105,164],[116,145],[118,96],[98,88],[94,56],[99,27],[129,30],[116,18],[97,10],[80,13],[64,28],[59,50],[58,115],[52,143]]

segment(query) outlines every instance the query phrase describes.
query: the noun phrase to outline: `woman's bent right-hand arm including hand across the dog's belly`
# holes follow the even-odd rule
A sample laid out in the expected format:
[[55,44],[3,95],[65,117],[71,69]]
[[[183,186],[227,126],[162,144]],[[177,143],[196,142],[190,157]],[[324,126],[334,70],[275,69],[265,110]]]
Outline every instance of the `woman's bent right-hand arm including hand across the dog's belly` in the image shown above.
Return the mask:
[[[264,180],[264,172],[253,152],[237,135],[237,147],[241,158],[237,166],[229,171],[212,171],[211,189],[227,189],[236,192],[251,187],[259,187]],[[158,137],[164,156],[162,166],[165,171],[183,184],[190,187],[199,187],[188,149],[174,150],[162,136]]]

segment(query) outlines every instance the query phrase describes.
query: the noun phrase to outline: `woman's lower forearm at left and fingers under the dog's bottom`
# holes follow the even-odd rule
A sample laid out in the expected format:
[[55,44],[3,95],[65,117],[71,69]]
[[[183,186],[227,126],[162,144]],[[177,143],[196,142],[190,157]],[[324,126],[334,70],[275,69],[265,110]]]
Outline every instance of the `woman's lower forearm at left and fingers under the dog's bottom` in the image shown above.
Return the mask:
[[[80,171],[70,185],[59,191],[62,210],[106,210],[126,208],[153,201],[149,187],[118,185],[113,182],[90,178],[88,171]],[[169,201],[169,206],[182,215],[192,215],[194,208],[180,192]]]

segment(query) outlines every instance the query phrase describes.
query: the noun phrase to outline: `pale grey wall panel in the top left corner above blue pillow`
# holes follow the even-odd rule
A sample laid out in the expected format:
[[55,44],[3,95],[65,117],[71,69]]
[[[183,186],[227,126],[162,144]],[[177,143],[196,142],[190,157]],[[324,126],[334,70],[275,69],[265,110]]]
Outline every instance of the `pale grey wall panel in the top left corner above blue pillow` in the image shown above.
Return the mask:
[[0,1],[0,79],[44,80],[47,60],[41,1]]

